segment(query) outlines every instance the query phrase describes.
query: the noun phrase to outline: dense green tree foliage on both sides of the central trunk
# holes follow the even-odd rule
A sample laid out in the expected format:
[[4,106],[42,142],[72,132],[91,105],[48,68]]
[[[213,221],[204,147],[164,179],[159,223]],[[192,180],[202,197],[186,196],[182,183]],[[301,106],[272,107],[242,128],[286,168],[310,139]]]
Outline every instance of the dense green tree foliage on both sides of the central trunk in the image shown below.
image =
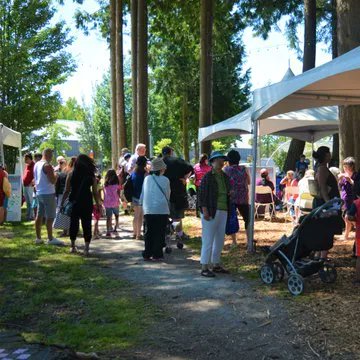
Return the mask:
[[[150,128],[155,141],[170,138],[179,153],[183,152],[186,99],[188,114],[185,121],[191,144],[197,141],[198,135],[199,4],[197,0],[158,0],[149,4]],[[242,29],[232,2],[217,1],[213,36],[214,123],[244,110],[248,103],[249,73],[243,73],[241,68],[244,59]]]

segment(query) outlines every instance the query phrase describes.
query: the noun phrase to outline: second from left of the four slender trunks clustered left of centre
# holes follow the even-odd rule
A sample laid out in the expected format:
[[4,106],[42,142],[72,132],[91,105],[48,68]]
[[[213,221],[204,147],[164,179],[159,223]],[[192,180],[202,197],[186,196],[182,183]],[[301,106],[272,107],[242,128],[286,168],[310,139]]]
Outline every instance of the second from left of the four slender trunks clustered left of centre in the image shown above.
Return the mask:
[[116,122],[118,158],[126,147],[125,95],[124,95],[124,51],[123,51],[123,1],[116,1]]

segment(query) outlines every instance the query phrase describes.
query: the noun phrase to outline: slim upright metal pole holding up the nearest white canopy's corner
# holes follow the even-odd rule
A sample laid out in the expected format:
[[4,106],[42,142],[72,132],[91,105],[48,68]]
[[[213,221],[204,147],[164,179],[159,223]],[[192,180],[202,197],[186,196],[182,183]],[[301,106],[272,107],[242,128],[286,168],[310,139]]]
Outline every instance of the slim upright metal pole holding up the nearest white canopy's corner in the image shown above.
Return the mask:
[[250,194],[250,222],[249,222],[249,237],[247,244],[247,251],[249,253],[255,252],[254,249],[254,223],[255,223],[255,189],[256,189],[256,165],[257,165],[257,147],[258,147],[258,122],[253,120],[253,161],[251,169],[251,194]]

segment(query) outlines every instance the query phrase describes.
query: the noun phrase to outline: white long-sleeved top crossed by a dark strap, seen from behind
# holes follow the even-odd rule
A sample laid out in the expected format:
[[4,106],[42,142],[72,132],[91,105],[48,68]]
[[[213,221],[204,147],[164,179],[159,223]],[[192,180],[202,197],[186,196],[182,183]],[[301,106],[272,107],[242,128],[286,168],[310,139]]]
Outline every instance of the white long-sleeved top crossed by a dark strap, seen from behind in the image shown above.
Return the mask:
[[[156,185],[156,182],[161,187]],[[166,195],[166,197],[165,197]],[[170,181],[167,177],[160,175],[149,175],[145,177],[140,197],[144,215],[168,215],[170,200]]]

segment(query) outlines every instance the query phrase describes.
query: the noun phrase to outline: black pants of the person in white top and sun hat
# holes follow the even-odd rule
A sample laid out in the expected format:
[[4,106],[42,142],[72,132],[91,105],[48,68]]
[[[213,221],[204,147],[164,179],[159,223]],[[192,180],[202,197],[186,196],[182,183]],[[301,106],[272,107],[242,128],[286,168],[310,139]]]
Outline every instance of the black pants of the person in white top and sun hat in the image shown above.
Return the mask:
[[164,257],[166,226],[168,215],[145,215],[145,251],[144,258]]

